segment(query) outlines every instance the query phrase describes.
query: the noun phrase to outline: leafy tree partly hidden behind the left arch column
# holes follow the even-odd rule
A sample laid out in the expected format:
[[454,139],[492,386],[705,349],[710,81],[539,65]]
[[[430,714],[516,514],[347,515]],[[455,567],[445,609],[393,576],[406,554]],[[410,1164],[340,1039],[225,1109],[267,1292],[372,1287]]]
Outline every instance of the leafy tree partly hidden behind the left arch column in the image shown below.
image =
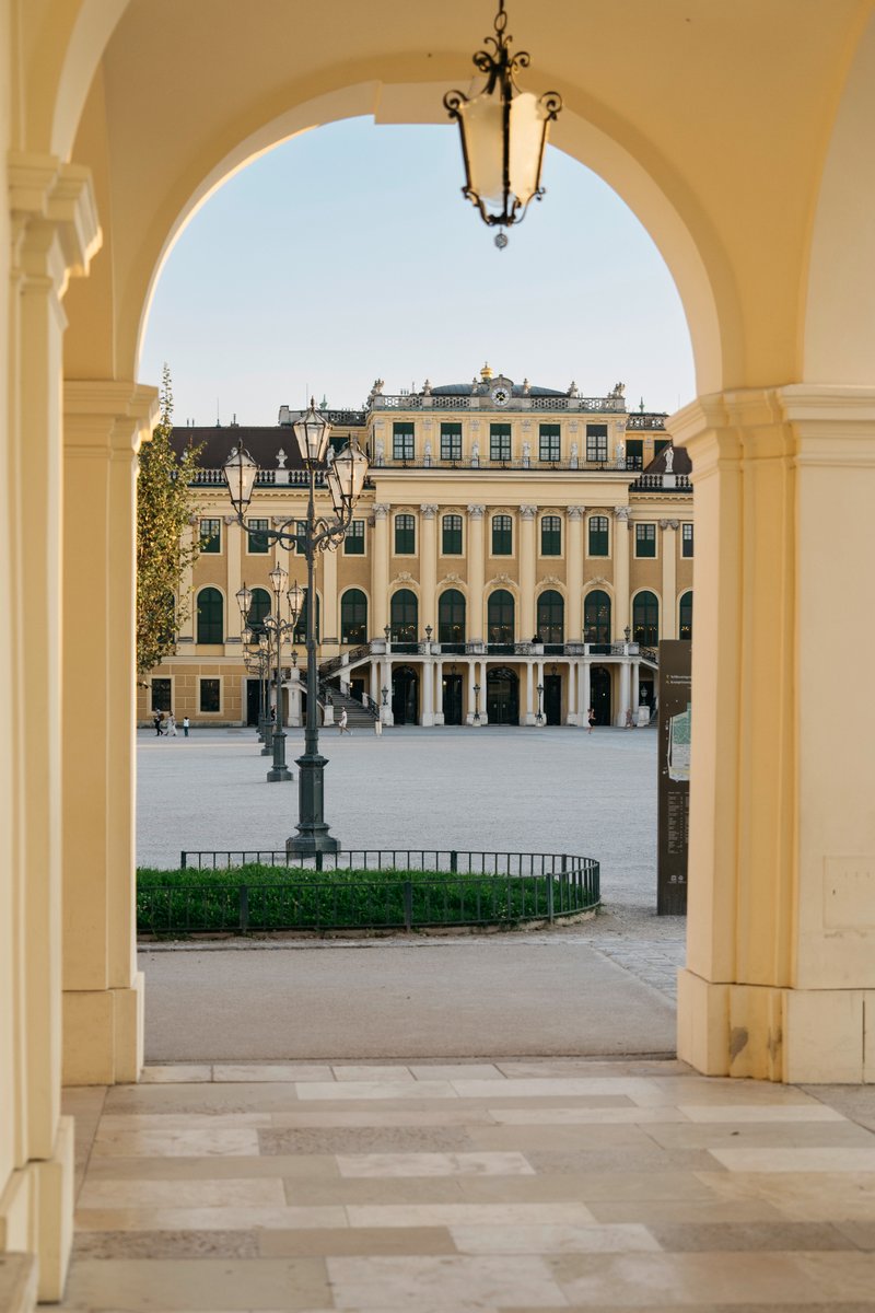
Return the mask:
[[176,634],[188,620],[192,597],[182,576],[201,551],[193,532],[197,506],[190,483],[201,448],[178,456],[172,446],[173,390],[164,365],[160,415],[152,440],[140,449],[136,484],[136,674],[142,678],[176,651]]

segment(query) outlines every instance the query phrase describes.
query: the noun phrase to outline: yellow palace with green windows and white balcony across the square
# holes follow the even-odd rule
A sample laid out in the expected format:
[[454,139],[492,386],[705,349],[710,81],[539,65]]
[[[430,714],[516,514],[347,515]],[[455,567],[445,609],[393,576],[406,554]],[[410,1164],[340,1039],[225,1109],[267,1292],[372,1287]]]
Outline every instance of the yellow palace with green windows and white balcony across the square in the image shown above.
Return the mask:
[[[317,565],[328,717],[358,704],[388,725],[585,725],[592,706],[601,725],[649,721],[657,643],[693,629],[690,465],[664,415],[630,412],[621,383],[582,397],[485,365],[470,383],[397,395],[376,379],[362,410],[327,416],[332,448],[353,439],[371,461],[350,532]],[[283,406],[274,427],[174,431],[177,448],[201,448],[192,533],[203,546],[140,721],[256,722],[236,593],[253,591],[257,626],[274,565],[306,583],[304,562],[264,536],[306,515],[296,418]],[[240,444],[260,467],[245,529],[222,475]],[[281,655],[287,725],[302,718],[304,628],[302,611],[298,646]]]

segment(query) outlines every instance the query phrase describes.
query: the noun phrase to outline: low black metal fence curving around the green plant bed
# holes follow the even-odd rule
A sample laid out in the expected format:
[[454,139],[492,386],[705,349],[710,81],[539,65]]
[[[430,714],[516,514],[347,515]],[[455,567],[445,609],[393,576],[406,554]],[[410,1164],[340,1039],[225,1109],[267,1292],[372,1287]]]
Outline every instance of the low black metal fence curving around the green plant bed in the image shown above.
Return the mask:
[[[598,863],[569,853],[379,848],[302,859],[209,850],[182,852],[181,865],[189,878],[138,888],[142,934],[506,926],[600,903]],[[268,877],[253,865],[283,871]],[[239,868],[249,869],[235,881]],[[227,882],[214,878],[226,871]]]

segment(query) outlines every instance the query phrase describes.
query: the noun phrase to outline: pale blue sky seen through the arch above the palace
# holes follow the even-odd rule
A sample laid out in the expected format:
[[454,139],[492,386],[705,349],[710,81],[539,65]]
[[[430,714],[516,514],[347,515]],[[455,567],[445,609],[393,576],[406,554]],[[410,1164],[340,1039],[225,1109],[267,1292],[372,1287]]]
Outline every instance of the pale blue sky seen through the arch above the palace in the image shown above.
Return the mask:
[[547,194],[504,251],[462,198],[453,126],[320,127],[230,179],[163,269],[140,378],[171,366],[177,424],[274,424],[308,391],[361,406],[468,382],[488,361],[630,408],[694,395],[681,302],[649,236],[594,175],[548,150]]

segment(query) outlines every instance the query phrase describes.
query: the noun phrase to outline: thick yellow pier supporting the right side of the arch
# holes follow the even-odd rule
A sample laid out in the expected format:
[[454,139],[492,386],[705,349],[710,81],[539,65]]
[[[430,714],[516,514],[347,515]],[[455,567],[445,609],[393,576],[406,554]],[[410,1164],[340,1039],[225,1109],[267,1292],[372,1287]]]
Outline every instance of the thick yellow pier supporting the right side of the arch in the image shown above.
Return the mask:
[[875,704],[824,701],[837,635],[875,638],[853,569],[875,555],[875,390],[704,397],[672,432],[693,458],[699,608],[678,1053],[875,1081]]

